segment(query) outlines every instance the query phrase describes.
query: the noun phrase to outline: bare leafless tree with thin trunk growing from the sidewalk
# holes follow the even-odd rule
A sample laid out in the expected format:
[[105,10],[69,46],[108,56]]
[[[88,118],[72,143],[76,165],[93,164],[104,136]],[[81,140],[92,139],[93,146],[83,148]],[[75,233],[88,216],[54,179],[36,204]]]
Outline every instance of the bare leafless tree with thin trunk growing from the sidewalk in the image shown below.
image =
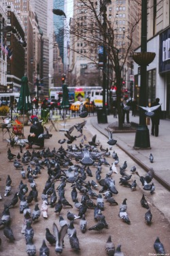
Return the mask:
[[[118,38],[120,34],[118,33],[118,29],[120,29],[120,27],[118,28],[116,23],[118,12],[112,11],[112,21],[107,12],[107,4],[110,4],[111,1],[100,0],[95,2],[80,0],[77,3],[79,6],[74,6],[74,8],[75,10],[79,10],[78,14],[80,15],[74,15],[71,20],[70,35],[72,48],[70,48],[70,50],[86,56],[89,60],[99,64],[99,46],[105,48],[104,58],[107,57],[109,59],[109,66],[112,67],[116,78],[118,120],[119,128],[122,128],[122,111],[120,106],[122,69],[130,53],[133,51],[133,35],[141,19],[141,5],[137,1],[131,0],[130,18],[126,20],[126,26],[124,26],[120,40],[120,38]],[[121,5],[122,4],[118,6],[121,7]],[[81,53],[76,47],[78,42],[82,42]],[[103,59],[103,61],[106,61],[106,59]],[[103,72],[105,72],[105,70],[103,70]]]

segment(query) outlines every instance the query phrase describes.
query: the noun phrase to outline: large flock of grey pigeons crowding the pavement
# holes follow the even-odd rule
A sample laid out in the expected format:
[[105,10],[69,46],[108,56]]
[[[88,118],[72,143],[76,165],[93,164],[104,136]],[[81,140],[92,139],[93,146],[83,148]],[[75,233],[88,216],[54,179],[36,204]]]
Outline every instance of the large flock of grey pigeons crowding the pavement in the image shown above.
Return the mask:
[[[76,220],[78,219],[80,230],[84,236],[86,236],[86,233],[89,234],[89,231],[102,232],[103,229],[108,229],[109,225],[104,215],[104,210],[107,207],[105,202],[112,206],[119,205],[120,219],[122,219],[124,225],[131,225],[127,210],[127,199],[124,198],[122,203],[118,203],[114,199],[114,195],[118,195],[118,186],[136,190],[137,181],[133,180],[131,182],[133,173],[139,176],[143,190],[147,190],[151,195],[155,191],[155,186],[152,182],[154,177],[152,168],[145,176],[141,176],[136,167],[133,166],[131,175],[128,175],[126,161],[120,167],[118,154],[115,151],[111,153],[112,147],[117,142],[114,140],[112,132],[108,130],[108,150],[108,148],[103,148],[99,141],[97,142],[97,135],[93,136],[91,141],[87,141],[86,136],[83,134],[85,125],[86,121],[69,128],[65,132],[65,139],[58,140],[58,143],[61,144],[58,150],[56,148],[53,150],[48,148],[41,151],[32,150],[30,152],[26,150],[22,152],[24,145],[20,145],[18,155],[12,154],[10,147],[7,150],[7,159],[14,165],[16,170],[20,170],[20,184],[18,184],[16,193],[13,193],[12,179],[7,174],[0,229],[3,229],[3,234],[7,240],[15,242],[10,211],[12,208],[18,208],[18,213],[22,214],[21,233],[25,242],[25,250],[29,256],[36,255],[37,251],[39,251],[40,256],[50,255],[48,244],[55,246],[54,251],[56,254],[61,254],[65,249],[64,238],[66,234],[69,237],[71,249],[75,252],[80,251],[78,230],[75,228]],[[71,135],[74,129],[76,130],[76,136]],[[82,138],[79,145],[73,144],[78,138]],[[64,143],[67,144],[66,149],[63,146]],[[109,158],[112,158],[113,163],[111,165],[107,161]],[[153,160],[154,158],[150,154],[150,162],[153,162]],[[103,172],[103,167],[108,168],[107,173]],[[119,172],[118,169],[120,169]],[[114,180],[114,173],[120,175],[119,184],[116,184]],[[41,195],[39,195],[36,179],[41,175],[46,175],[46,183]],[[66,190],[70,191],[71,201],[67,200]],[[14,195],[14,197],[10,201],[6,200],[10,195]],[[34,205],[33,210],[31,210],[30,205]],[[152,212],[144,194],[141,197],[141,206],[147,210],[145,214],[147,225],[152,225]],[[36,248],[33,227],[40,221],[41,216],[44,219],[48,219],[50,208],[54,210],[58,225],[56,225],[56,222],[52,224],[53,233],[49,227],[46,227],[41,247]],[[75,210],[78,212],[77,214],[74,213]],[[65,211],[67,214],[64,216]],[[92,225],[92,227],[88,227],[89,211],[94,212],[95,225]],[[108,235],[107,238],[105,241],[107,255],[126,255],[125,252],[121,251],[121,244],[115,246],[112,242],[112,237]],[[163,243],[160,242],[158,237],[153,246],[157,254],[165,254]]]

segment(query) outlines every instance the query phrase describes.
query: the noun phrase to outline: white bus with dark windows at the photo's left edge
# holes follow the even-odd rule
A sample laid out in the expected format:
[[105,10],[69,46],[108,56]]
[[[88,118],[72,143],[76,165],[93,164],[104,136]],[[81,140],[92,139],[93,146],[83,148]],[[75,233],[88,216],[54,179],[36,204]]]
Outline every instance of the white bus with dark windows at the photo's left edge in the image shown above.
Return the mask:
[[0,92],[1,105],[10,106],[10,104],[18,103],[20,93],[11,93],[11,92]]

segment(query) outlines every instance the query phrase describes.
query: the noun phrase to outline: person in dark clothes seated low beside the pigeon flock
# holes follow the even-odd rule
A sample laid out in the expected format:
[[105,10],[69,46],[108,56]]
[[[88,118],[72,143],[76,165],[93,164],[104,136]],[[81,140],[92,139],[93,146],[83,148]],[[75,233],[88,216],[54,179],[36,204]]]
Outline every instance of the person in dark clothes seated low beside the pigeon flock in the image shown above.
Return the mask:
[[44,127],[41,125],[41,122],[39,122],[39,119],[37,117],[33,117],[33,124],[30,128],[30,133],[28,136],[29,145],[26,147],[26,149],[31,149],[32,145],[39,145],[39,147],[44,147],[44,137],[39,138],[40,134],[44,133]]

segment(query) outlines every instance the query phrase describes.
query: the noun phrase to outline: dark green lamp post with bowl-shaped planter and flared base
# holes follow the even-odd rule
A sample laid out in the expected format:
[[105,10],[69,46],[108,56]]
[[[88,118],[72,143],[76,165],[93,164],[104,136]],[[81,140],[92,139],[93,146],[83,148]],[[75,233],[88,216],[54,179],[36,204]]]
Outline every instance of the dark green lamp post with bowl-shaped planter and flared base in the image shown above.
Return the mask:
[[[147,53],[147,1],[141,1],[141,53],[133,55],[133,60],[141,66],[141,85],[139,105],[147,106],[147,66],[154,60],[155,53]],[[150,133],[146,125],[146,115],[139,109],[139,126],[137,127],[134,148],[150,149]]]

